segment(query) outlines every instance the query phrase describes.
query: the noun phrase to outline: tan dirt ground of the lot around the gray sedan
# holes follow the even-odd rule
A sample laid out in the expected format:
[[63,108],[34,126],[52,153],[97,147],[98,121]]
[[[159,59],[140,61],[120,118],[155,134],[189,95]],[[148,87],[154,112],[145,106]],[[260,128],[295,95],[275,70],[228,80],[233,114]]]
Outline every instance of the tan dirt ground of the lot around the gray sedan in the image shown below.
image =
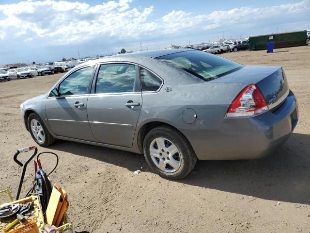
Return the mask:
[[[50,178],[68,192],[68,215],[77,232],[310,233],[310,46],[222,56],[244,65],[284,68],[299,105],[290,139],[261,160],[198,161],[181,181],[155,175],[139,154],[67,141],[39,148],[60,156]],[[13,155],[34,144],[19,105],[46,93],[61,76],[0,83],[0,189],[10,188],[14,196],[21,167]],[[43,161],[48,171],[55,159]],[[22,195],[33,173],[31,165]]]

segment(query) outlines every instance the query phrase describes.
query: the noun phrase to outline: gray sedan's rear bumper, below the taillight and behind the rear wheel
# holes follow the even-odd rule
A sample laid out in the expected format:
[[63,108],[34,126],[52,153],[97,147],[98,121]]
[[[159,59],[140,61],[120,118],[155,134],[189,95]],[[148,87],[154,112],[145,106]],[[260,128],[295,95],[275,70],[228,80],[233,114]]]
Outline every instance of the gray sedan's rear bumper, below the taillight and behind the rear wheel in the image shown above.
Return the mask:
[[198,159],[257,159],[277,150],[298,121],[297,100],[290,92],[276,110],[252,118],[225,118],[217,130],[185,130]]

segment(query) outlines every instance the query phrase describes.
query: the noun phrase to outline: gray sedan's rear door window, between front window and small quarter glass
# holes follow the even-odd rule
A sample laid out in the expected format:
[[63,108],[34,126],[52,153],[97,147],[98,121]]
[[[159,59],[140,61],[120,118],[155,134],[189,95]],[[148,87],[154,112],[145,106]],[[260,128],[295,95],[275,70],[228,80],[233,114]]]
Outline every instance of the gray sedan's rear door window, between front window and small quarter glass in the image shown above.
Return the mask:
[[136,66],[129,64],[101,65],[96,81],[95,93],[133,92]]

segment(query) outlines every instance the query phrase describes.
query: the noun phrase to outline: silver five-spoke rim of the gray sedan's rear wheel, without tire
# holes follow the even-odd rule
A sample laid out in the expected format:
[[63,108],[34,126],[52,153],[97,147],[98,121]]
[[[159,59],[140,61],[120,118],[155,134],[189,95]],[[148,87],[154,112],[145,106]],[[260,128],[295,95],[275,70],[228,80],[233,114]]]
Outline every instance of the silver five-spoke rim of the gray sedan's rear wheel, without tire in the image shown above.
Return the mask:
[[155,138],[152,141],[150,155],[155,166],[167,173],[177,171],[182,163],[179,149],[170,140],[163,137]]

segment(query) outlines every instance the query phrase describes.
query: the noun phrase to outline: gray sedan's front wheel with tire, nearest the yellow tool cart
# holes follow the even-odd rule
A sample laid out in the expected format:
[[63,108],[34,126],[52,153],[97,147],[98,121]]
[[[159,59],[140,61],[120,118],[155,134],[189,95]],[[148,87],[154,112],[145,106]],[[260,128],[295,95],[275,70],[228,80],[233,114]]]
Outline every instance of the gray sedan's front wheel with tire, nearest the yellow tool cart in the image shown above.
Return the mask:
[[47,147],[56,141],[48,132],[42,119],[35,113],[31,113],[28,117],[28,129],[32,139],[42,147]]

